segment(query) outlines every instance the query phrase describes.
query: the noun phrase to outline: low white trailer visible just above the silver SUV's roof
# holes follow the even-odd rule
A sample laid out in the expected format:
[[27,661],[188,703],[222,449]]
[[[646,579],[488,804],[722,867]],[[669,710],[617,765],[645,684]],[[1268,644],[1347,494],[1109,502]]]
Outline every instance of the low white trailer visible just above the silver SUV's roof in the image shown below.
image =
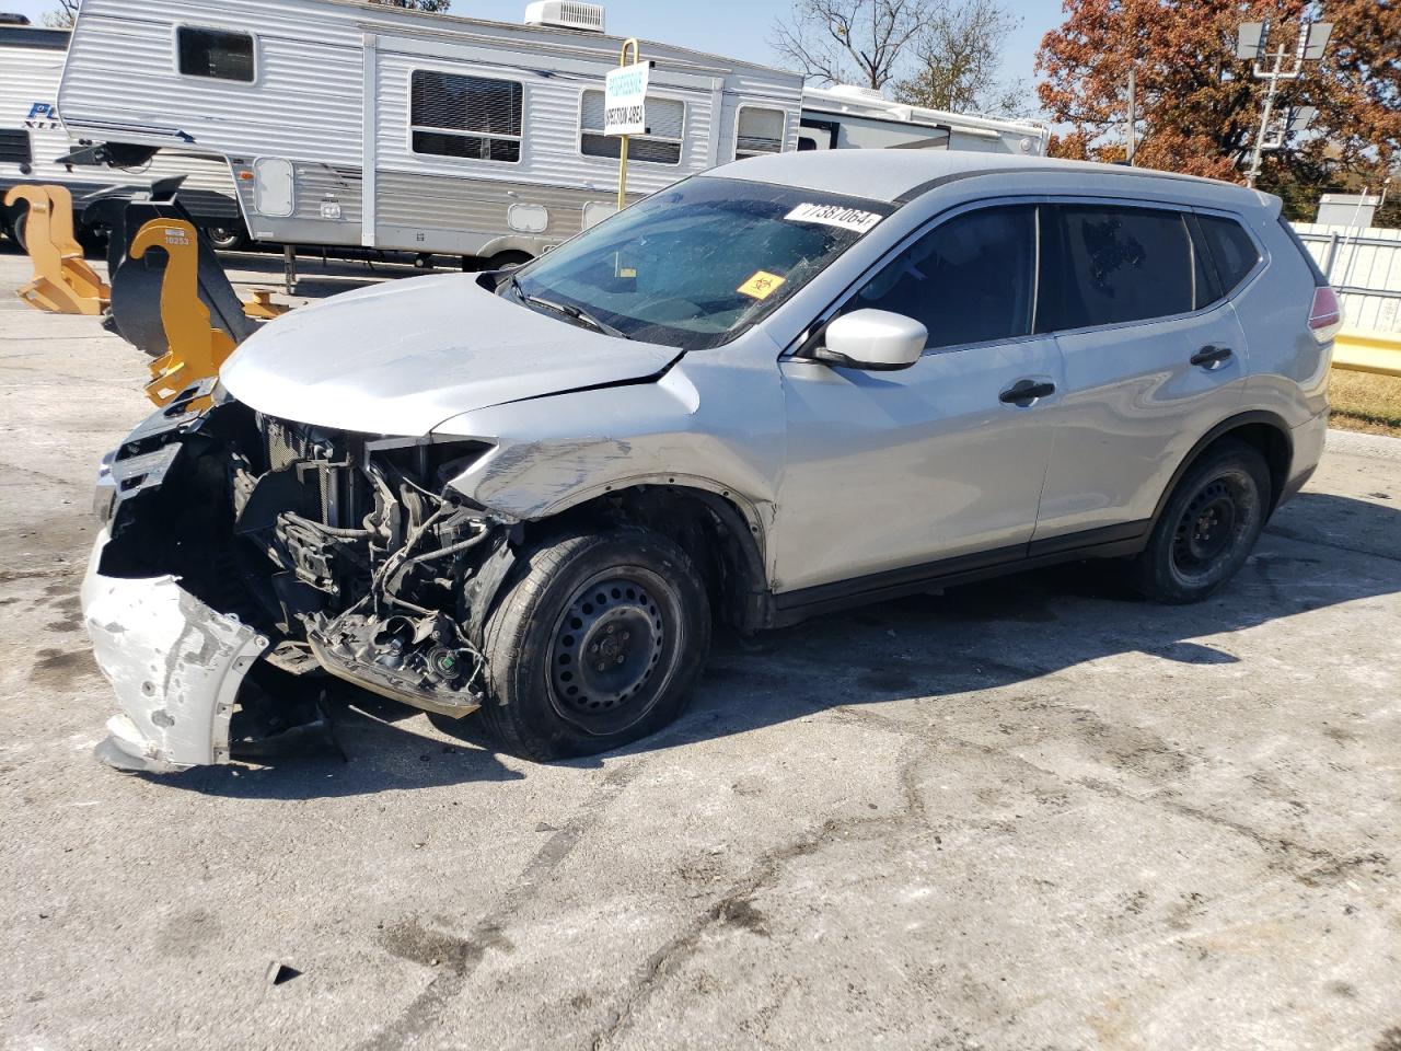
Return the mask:
[[967,150],[1044,157],[1051,130],[1034,121],[1005,121],[891,102],[878,91],[838,85],[803,94],[800,150]]

